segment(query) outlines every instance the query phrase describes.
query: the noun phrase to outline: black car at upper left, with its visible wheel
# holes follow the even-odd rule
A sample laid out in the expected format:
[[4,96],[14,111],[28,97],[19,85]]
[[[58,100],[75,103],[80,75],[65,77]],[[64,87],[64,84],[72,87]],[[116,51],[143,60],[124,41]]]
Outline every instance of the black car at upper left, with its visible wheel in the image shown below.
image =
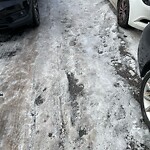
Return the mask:
[[39,24],[37,0],[0,0],[0,29]]

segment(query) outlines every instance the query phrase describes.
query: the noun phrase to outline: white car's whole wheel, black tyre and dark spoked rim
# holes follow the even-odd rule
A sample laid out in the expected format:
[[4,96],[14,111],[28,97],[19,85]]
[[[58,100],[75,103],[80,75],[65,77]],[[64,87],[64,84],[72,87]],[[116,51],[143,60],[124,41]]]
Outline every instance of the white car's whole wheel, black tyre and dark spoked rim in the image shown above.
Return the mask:
[[128,28],[129,0],[119,0],[117,5],[117,20],[119,26]]

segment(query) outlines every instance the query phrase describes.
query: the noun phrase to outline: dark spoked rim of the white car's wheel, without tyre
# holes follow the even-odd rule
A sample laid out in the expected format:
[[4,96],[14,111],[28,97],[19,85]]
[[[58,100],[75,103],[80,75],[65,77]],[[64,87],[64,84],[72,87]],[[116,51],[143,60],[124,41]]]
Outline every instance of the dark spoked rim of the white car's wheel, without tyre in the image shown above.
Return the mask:
[[127,15],[127,3],[126,0],[122,0],[119,7],[119,20],[120,22],[124,22],[126,20]]

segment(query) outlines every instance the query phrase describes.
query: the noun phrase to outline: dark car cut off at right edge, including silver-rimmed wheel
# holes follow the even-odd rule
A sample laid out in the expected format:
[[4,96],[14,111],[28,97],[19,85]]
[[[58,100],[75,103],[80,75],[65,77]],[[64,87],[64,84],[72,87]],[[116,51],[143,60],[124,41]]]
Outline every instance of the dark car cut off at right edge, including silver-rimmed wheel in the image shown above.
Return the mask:
[[140,90],[141,110],[150,129],[150,24],[142,33],[138,48],[138,63],[143,78]]

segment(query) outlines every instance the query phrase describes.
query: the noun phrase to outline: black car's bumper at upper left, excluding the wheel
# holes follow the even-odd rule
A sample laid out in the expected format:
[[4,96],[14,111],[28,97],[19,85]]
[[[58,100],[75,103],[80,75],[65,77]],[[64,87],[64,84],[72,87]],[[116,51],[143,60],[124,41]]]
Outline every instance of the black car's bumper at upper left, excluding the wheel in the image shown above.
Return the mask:
[[30,24],[32,20],[31,1],[7,0],[0,2],[0,30]]

